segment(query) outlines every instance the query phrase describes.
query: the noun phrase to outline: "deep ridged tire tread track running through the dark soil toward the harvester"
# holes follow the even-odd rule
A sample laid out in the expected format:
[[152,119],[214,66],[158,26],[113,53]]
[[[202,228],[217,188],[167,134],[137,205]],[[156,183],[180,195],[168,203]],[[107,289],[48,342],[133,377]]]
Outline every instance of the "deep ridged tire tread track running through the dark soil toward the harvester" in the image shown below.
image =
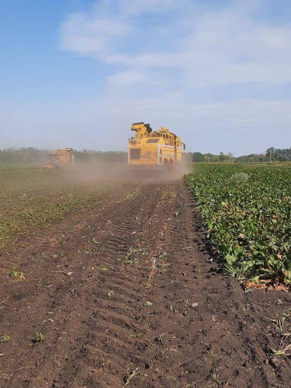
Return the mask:
[[[113,236],[109,238],[107,248],[104,251],[104,257],[106,257],[105,262],[108,265],[120,266],[121,264],[116,261],[116,248],[118,247],[118,253],[125,254],[129,247],[134,245],[134,238],[136,235],[138,236],[139,232],[142,231],[141,226],[133,225],[133,219],[134,216],[135,218],[137,216],[144,217],[144,195],[145,193],[140,192],[134,202],[121,211],[111,223]],[[135,232],[134,235],[131,234],[133,231]],[[122,235],[122,239],[118,238],[118,235]],[[116,244],[117,241],[119,243],[122,242],[122,247],[120,247],[118,243]],[[131,242],[133,244],[131,244]],[[140,270],[131,268],[130,276],[126,278],[126,275],[127,274],[125,272],[115,271],[113,279],[115,284],[119,283],[117,284],[117,287],[111,282],[111,279],[104,279],[105,287],[109,283],[106,287],[106,291],[104,292],[104,290],[102,290],[95,293],[98,300],[94,305],[94,314],[98,317],[98,319],[96,321],[92,321],[92,325],[88,325],[87,332],[85,333],[83,339],[86,343],[86,347],[90,345],[92,354],[95,352],[95,356],[90,356],[86,359],[86,365],[82,365],[81,373],[77,372],[74,376],[71,376],[69,371],[71,371],[72,368],[76,369],[75,364],[77,359],[83,352],[83,347],[81,347],[79,353],[77,353],[75,358],[71,360],[71,363],[66,365],[65,370],[61,372],[58,378],[58,380],[62,382],[60,384],[63,384],[64,387],[79,387],[82,384],[88,385],[89,382],[91,382],[90,384],[100,385],[102,384],[102,381],[108,380],[113,380],[114,384],[117,383],[117,381],[119,384],[122,384],[120,370],[125,367],[125,360],[131,359],[130,354],[132,352],[132,347],[129,347],[129,344],[126,341],[129,340],[131,336],[134,337],[140,334],[139,324],[136,319],[136,307],[131,307],[131,305],[134,306],[139,301],[139,297],[136,294],[138,290],[135,287],[136,281],[134,280],[134,277],[140,276]],[[127,296],[130,304],[124,303],[123,290],[118,287],[120,285],[122,285],[123,290],[126,289],[125,296]],[[108,301],[106,292],[109,291],[107,290],[114,291],[113,301]],[[96,300],[92,302],[96,302]],[[108,324],[111,324],[110,329]],[[107,333],[101,334],[101,338],[103,338],[103,340],[100,340],[100,336],[96,336],[96,333],[101,333],[102,326],[107,327]],[[93,342],[97,338],[100,342],[94,346]],[[106,350],[104,350],[104,348]],[[101,378],[98,373],[92,374],[92,370],[102,369],[104,368],[104,365],[110,365],[110,373],[106,373],[106,378],[104,377],[104,372]],[[117,377],[113,378],[113,372],[117,373]],[[67,378],[68,375],[70,375],[70,380]]]

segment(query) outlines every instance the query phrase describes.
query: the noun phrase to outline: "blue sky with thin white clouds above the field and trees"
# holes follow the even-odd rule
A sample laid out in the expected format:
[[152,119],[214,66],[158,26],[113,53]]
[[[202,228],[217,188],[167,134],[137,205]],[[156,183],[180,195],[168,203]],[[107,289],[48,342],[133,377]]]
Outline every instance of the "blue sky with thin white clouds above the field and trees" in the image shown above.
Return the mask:
[[290,0],[0,0],[0,148],[291,146]]

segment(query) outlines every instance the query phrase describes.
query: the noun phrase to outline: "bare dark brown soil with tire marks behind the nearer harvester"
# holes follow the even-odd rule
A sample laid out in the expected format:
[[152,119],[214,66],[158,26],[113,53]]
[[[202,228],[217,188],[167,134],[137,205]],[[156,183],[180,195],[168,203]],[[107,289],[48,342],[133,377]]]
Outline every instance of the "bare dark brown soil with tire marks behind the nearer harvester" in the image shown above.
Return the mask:
[[289,295],[217,271],[181,180],[135,189],[2,252],[0,388],[288,387]]

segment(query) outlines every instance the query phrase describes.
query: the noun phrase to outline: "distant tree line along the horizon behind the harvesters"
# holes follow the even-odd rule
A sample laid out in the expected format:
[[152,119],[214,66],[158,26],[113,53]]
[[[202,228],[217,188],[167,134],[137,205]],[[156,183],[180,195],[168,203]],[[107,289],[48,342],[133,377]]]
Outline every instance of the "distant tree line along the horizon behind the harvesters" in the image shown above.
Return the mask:
[[[48,149],[39,149],[33,147],[10,147],[0,149],[0,162],[39,162],[45,163],[48,155]],[[122,151],[94,151],[83,149],[82,151],[74,149],[76,162],[126,162],[128,153]],[[201,152],[186,152],[184,159],[189,162],[291,162],[290,148],[270,147],[263,154],[250,154],[233,157],[232,153],[225,154],[220,152],[219,155]]]

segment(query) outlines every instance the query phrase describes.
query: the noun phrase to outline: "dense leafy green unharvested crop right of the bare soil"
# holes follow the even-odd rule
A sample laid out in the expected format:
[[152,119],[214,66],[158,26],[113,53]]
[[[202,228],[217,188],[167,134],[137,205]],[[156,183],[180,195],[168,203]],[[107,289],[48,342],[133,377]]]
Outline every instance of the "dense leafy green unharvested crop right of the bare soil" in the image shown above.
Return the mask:
[[232,276],[291,283],[290,167],[196,164],[186,181]]

